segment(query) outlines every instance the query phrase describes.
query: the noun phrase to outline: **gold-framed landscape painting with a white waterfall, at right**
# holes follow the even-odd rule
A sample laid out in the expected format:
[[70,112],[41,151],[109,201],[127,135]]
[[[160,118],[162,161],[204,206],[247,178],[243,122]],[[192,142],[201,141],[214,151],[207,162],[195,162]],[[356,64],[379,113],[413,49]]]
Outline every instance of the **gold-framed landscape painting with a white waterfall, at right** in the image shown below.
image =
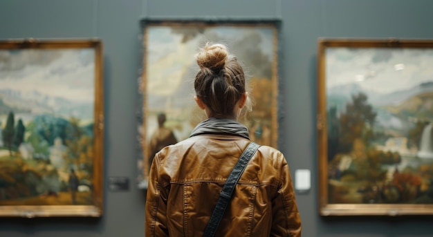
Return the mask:
[[433,41],[318,42],[319,212],[433,214]]

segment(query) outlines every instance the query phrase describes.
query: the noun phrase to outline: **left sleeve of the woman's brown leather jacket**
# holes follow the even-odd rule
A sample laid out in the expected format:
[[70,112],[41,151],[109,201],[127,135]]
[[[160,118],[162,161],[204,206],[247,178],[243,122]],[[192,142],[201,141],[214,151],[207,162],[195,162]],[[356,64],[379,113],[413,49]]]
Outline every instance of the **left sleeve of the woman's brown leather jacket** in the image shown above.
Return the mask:
[[159,160],[155,155],[149,173],[145,210],[145,236],[169,236],[167,230],[167,196],[160,185]]

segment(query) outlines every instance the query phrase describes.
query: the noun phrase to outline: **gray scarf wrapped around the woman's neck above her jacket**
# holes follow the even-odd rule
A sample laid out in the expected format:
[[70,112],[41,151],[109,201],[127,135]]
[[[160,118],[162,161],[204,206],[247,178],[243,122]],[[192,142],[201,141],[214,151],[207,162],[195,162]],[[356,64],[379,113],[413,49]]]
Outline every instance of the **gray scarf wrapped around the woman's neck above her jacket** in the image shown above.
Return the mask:
[[230,134],[250,139],[248,129],[243,124],[240,124],[236,120],[218,119],[215,117],[210,117],[197,124],[194,130],[192,130],[190,138],[200,134]]

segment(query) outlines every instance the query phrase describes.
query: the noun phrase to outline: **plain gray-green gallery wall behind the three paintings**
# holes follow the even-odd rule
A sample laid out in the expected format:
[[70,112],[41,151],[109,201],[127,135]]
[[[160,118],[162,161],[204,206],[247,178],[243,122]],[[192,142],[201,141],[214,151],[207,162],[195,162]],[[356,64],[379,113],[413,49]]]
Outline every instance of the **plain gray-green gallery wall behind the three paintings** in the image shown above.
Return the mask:
[[[316,43],[318,37],[433,39],[430,0],[1,0],[0,39],[89,38],[104,43],[104,180],[136,177],[136,100],[142,17],[282,19],[279,148],[291,171],[311,169],[313,189],[297,196],[304,236],[426,237],[433,218],[317,215]],[[144,236],[145,194],[105,191],[100,219],[1,218],[0,236]]]

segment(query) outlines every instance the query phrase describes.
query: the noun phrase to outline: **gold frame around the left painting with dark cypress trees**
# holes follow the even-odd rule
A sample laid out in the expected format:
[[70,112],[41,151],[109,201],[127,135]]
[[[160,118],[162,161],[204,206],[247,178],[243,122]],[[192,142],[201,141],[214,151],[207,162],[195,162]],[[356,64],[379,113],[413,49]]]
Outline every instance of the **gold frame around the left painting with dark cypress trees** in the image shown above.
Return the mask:
[[0,50],[55,50],[92,49],[94,51],[94,104],[93,104],[93,176],[91,183],[91,205],[0,205],[0,216],[22,218],[54,216],[99,217],[104,206],[104,84],[103,55],[100,39],[59,39],[59,40],[9,40],[0,41]]

